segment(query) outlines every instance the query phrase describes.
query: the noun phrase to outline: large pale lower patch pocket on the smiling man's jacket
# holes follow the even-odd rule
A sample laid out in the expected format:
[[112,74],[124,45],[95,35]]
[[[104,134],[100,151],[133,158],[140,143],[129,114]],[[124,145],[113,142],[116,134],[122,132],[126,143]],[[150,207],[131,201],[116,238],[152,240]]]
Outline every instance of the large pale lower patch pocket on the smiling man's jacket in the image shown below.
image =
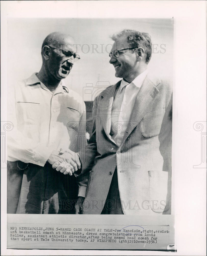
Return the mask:
[[150,207],[162,213],[166,206],[168,172],[148,171],[150,183]]

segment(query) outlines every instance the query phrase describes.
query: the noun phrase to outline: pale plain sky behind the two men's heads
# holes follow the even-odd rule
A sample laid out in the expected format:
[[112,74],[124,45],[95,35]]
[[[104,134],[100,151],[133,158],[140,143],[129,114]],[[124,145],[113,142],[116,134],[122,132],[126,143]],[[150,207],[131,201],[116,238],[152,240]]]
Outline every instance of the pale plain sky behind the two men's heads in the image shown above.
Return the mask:
[[122,29],[136,29],[149,33],[153,44],[149,72],[172,78],[173,22],[173,18],[8,19],[8,83],[12,86],[15,80],[28,78],[33,72],[40,70],[42,42],[54,31],[67,33],[75,38],[81,59],[74,64],[64,82],[84,100],[94,100],[94,95],[85,93],[86,84],[104,88],[120,80],[115,77],[115,69],[109,63],[108,55],[113,45],[113,40],[109,36]]

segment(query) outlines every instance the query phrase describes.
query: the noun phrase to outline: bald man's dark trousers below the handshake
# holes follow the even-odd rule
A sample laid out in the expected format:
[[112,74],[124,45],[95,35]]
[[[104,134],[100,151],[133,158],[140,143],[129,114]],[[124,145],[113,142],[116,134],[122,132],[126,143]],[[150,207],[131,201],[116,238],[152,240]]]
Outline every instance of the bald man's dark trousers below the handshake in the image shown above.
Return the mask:
[[7,213],[74,214],[76,177],[64,175],[46,162],[44,167],[7,162]]

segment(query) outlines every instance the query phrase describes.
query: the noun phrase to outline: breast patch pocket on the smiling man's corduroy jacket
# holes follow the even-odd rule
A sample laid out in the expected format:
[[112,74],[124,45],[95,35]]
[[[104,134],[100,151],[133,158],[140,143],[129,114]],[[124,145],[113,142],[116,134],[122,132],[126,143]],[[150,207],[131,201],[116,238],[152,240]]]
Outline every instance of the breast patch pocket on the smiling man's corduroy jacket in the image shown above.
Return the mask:
[[165,108],[149,111],[141,120],[141,132],[146,138],[158,136],[160,134]]

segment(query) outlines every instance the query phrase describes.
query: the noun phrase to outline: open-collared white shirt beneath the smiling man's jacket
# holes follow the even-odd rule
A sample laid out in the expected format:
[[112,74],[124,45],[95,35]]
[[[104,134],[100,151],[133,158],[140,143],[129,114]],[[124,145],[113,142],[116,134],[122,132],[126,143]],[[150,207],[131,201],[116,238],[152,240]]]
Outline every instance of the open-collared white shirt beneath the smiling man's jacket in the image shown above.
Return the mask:
[[137,76],[131,83],[122,79],[120,87],[114,97],[111,111],[112,126],[110,135],[118,146],[122,143],[122,138],[127,129],[137,93],[146,75],[147,70]]

